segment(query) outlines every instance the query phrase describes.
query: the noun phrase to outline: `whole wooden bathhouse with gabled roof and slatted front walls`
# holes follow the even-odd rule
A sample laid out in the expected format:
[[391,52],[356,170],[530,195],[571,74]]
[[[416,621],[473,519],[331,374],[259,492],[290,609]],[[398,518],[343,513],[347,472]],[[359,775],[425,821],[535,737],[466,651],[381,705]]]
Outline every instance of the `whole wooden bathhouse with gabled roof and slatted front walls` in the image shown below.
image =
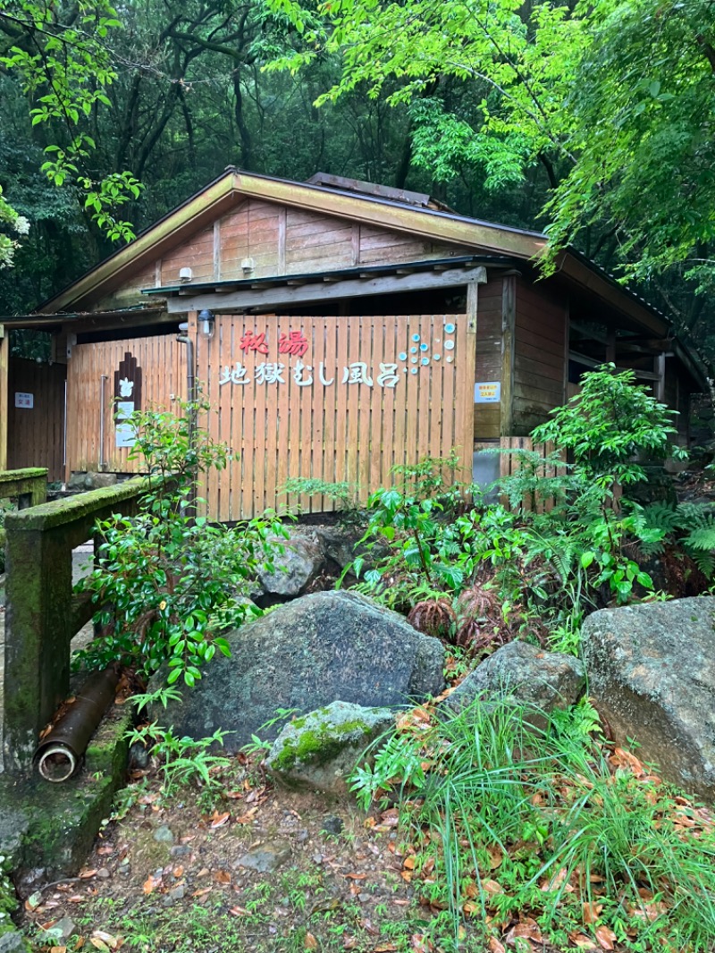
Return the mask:
[[[686,439],[697,358],[581,254],[541,279],[544,243],[426,194],[229,168],[36,314],[0,318],[0,469],[132,472],[123,418],[194,377],[235,455],[207,490],[223,520],[276,505],[289,476],[365,494],[452,448],[469,476],[603,361],[681,411]],[[51,332],[50,365],[9,357],[28,327]]]

